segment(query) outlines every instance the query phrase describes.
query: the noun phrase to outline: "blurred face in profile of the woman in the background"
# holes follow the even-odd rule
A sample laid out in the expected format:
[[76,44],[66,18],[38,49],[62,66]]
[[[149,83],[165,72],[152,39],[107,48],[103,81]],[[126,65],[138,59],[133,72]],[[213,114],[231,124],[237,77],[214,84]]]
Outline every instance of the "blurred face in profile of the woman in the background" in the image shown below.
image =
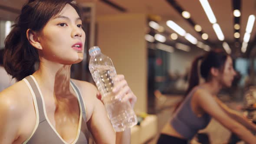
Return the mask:
[[234,76],[236,75],[235,70],[233,69],[233,61],[230,56],[226,58],[224,64],[223,73],[220,76],[221,83],[224,87],[230,87],[232,85]]

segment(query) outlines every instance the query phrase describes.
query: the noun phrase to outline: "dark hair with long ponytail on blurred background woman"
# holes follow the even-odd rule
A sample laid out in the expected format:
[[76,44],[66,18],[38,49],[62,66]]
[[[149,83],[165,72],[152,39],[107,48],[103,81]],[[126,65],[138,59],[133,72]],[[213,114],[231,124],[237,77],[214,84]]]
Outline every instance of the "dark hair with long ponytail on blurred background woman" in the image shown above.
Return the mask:
[[[205,55],[195,58],[191,65],[189,84],[184,99],[195,86],[199,85],[199,75],[201,75],[205,81],[209,81],[211,79],[210,69],[212,67],[223,69],[227,56],[228,55],[226,52],[224,52],[222,49],[213,49],[210,52],[207,52]],[[202,60],[202,62],[199,73],[198,63],[200,60]],[[174,111],[177,110],[181,103],[182,101],[177,104]]]

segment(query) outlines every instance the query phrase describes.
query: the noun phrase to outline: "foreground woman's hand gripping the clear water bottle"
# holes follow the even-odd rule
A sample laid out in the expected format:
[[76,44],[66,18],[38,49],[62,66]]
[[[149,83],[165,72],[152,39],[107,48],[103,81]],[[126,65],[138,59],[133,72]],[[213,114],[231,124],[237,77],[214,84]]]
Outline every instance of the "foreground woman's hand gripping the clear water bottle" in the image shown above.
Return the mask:
[[[124,75],[116,75],[113,78],[114,82],[114,88],[113,88],[113,93],[115,94],[116,99],[121,99],[121,101],[130,101],[131,107],[133,108],[136,101],[137,97],[133,94],[131,91],[131,88],[128,86],[125,76]],[[98,92],[97,98],[102,100],[102,96]]]

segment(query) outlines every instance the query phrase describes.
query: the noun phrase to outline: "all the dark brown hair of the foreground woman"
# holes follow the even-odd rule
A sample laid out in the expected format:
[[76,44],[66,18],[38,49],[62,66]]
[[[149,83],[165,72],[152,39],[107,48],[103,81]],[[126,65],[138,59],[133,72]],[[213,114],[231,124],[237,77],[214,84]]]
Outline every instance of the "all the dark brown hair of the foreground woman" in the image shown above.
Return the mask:
[[39,62],[38,50],[26,38],[27,29],[41,31],[66,4],[74,7],[82,18],[74,0],[29,0],[22,7],[20,16],[16,18],[13,29],[5,39],[3,66],[13,78],[20,81],[33,74],[35,62]]

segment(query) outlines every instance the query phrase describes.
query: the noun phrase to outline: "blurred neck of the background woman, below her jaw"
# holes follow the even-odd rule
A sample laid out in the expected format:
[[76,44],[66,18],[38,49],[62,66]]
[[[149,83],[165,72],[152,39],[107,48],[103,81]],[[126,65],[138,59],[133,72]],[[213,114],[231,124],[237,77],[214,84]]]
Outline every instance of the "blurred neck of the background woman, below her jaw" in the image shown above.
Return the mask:
[[222,86],[217,81],[204,82],[200,86],[206,88],[212,95],[217,95],[222,88]]

